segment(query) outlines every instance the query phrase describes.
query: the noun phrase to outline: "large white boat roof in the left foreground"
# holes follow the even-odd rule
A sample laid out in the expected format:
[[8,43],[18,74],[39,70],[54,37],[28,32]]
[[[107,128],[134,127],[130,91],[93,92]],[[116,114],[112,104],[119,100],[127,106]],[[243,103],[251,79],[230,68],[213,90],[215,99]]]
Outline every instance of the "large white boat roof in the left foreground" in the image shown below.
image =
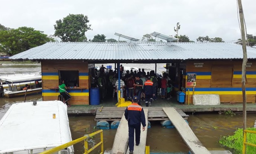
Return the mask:
[[[72,141],[67,106],[58,100],[15,103],[0,120],[0,154],[36,154]],[[73,154],[74,147],[59,154]]]

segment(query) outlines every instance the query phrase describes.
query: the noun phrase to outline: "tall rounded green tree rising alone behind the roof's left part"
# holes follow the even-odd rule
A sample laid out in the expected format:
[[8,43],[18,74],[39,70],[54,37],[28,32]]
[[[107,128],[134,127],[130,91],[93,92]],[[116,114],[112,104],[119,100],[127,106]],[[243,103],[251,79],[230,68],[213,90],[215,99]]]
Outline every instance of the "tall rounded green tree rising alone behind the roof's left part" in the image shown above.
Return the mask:
[[63,42],[86,42],[85,32],[90,30],[88,17],[83,14],[69,14],[63,20],[57,20],[54,25],[54,36],[58,36]]

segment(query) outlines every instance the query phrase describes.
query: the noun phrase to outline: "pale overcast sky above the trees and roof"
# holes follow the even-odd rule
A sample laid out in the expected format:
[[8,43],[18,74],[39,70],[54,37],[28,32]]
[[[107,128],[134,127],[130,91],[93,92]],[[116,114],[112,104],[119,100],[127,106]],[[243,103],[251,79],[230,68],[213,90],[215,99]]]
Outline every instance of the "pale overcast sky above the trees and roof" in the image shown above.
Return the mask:
[[[242,0],[247,33],[256,35],[256,0]],[[56,20],[68,14],[89,17],[93,31],[118,39],[115,32],[142,38],[154,31],[196,41],[198,36],[221,37],[225,42],[240,38],[236,0],[5,0],[0,23],[9,28],[27,26],[50,35]]]

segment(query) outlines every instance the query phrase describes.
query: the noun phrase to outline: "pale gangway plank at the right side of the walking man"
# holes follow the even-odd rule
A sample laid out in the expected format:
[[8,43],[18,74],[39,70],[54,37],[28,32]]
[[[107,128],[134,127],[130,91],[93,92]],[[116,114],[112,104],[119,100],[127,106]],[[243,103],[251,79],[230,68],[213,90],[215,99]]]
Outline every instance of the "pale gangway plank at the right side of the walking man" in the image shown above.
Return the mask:
[[[148,130],[148,109],[143,109],[145,113],[145,119],[146,119],[146,126],[145,126],[145,131],[142,131],[142,125],[141,125],[141,133],[140,133],[140,144],[136,146],[135,144],[135,135],[134,135],[134,154],[145,154],[145,148],[146,148],[146,140],[147,140],[147,130]],[[127,149],[127,153],[129,154],[129,147]]]

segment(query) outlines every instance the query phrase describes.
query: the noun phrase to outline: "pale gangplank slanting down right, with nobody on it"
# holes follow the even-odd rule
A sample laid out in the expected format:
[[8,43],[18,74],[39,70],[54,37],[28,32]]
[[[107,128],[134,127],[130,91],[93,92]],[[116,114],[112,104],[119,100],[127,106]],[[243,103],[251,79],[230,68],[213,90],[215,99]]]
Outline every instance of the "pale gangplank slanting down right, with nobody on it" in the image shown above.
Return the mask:
[[173,125],[194,154],[211,154],[193,133],[188,123],[174,108],[163,108]]

